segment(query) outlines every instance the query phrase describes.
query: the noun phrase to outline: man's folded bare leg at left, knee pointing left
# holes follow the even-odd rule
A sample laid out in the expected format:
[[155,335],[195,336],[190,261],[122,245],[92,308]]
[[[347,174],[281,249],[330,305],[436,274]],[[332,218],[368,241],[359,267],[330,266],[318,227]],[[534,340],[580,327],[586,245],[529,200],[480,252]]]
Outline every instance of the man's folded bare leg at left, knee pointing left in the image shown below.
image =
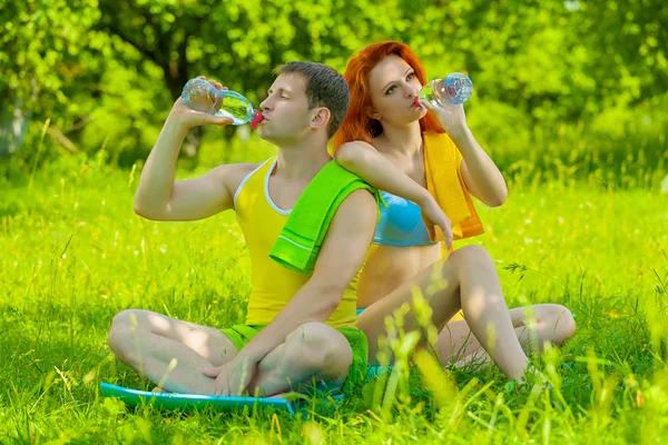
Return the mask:
[[139,309],[114,317],[108,343],[121,362],[175,393],[213,394],[215,379],[202,369],[220,366],[237,353],[218,329]]

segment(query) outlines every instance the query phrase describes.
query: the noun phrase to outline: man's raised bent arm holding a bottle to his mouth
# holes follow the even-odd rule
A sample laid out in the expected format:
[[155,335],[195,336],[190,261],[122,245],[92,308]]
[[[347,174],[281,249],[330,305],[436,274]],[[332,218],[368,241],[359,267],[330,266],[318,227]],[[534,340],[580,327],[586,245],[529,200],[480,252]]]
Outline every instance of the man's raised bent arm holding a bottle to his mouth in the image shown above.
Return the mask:
[[141,171],[135,212],[148,219],[186,221],[232,208],[237,186],[255,167],[252,164],[219,166],[200,178],[175,181],[176,160],[189,129],[202,125],[225,127],[230,122],[229,118],[190,110],[178,98]]

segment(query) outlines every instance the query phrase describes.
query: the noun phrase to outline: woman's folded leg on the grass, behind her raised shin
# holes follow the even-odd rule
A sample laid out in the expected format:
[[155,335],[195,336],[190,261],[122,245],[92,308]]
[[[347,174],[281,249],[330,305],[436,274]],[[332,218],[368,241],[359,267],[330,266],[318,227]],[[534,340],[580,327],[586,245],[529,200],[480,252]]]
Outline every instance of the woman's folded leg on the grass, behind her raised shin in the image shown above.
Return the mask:
[[[509,313],[515,336],[527,352],[542,350],[546,342],[560,345],[576,330],[570,310],[560,305],[517,307]],[[443,365],[454,362],[456,367],[461,367],[471,362],[483,364],[490,360],[466,320],[445,325],[439,334],[435,349]]]

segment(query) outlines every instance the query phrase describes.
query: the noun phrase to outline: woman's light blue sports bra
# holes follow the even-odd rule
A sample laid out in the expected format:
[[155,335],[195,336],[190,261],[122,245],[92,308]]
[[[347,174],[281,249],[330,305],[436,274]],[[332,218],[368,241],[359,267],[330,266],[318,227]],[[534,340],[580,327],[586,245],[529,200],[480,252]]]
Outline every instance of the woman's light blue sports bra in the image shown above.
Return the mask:
[[432,246],[420,206],[399,196],[381,191],[387,207],[381,206],[381,220],[376,225],[373,244],[407,247]]

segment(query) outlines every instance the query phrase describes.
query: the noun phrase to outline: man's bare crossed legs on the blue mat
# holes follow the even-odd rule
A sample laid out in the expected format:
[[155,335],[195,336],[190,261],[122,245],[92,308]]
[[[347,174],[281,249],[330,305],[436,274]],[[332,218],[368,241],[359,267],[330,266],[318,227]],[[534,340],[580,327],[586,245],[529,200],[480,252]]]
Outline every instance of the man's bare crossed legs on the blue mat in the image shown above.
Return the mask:
[[[216,379],[204,369],[222,366],[238,353],[216,328],[139,309],[114,317],[108,342],[121,362],[175,393],[215,394]],[[351,343],[340,330],[323,323],[305,323],[258,363],[247,390],[268,397],[313,383],[341,387],[352,363]]]

